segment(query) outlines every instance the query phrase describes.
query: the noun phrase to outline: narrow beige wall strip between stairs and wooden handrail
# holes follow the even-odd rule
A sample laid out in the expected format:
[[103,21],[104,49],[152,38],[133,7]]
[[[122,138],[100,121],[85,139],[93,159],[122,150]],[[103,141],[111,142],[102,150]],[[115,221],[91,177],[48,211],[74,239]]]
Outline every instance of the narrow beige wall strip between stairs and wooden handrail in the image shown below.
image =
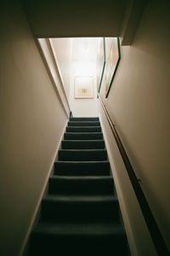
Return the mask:
[[111,127],[103,108],[99,106],[99,118],[105,137],[105,145],[111,164],[111,171],[116,185],[116,193],[122,211],[122,218],[127,232],[127,240],[132,256],[156,256],[156,249],[151,241],[149,230],[127,175],[122,156],[112,135]]

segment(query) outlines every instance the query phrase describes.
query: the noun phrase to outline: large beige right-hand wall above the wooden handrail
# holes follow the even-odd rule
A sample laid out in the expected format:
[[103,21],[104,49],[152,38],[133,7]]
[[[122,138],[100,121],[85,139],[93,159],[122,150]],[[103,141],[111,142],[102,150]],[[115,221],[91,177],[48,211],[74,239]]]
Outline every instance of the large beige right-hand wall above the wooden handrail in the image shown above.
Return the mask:
[[[170,4],[149,1],[105,105],[170,248]],[[105,98],[105,84],[101,95]]]

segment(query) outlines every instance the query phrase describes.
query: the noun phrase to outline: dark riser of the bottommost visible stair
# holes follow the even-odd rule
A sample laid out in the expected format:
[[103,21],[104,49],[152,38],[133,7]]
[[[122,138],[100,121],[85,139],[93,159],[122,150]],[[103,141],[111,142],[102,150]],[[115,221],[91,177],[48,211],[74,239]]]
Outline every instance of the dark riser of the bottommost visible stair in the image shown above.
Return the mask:
[[[31,256],[47,255],[87,256],[120,255],[127,256],[127,240],[124,234],[108,236],[31,236]],[[82,249],[80,249],[82,248]],[[81,252],[81,253],[80,253]]]

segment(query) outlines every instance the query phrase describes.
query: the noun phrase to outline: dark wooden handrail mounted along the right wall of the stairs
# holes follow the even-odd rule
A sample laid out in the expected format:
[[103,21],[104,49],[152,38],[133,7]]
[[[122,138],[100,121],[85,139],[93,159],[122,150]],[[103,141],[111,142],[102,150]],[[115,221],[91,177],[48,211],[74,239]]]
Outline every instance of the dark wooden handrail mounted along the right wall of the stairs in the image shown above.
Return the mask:
[[121,141],[120,137],[118,136],[116,127],[112,123],[111,116],[110,116],[107,108],[105,107],[105,104],[104,104],[101,96],[99,96],[99,101],[101,103],[102,108],[104,109],[106,118],[109,122],[111,131],[113,133],[113,136],[115,137],[117,147],[119,148],[119,152],[122,155],[122,160],[124,162],[124,165],[126,166],[128,177],[132,183],[133,190],[137,197],[137,200],[139,201],[139,206],[143,213],[145,223],[147,224],[148,230],[150,232],[151,239],[156,247],[156,253],[159,256],[168,256],[168,255],[170,255],[170,253],[168,251],[166,242],[164,241],[163,236],[161,235],[161,231],[160,231],[158,225],[156,224],[156,219],[154,218],[154,215],[150,210],[149,203],[146,200],[144,192],[141,189],[141,186],[139,184],[140,180],[138,177],[136,177],[136,174],[133,170],[133,166],[131,165],[130,160],[128,159],[125,148],[122,145],[122,141]]

